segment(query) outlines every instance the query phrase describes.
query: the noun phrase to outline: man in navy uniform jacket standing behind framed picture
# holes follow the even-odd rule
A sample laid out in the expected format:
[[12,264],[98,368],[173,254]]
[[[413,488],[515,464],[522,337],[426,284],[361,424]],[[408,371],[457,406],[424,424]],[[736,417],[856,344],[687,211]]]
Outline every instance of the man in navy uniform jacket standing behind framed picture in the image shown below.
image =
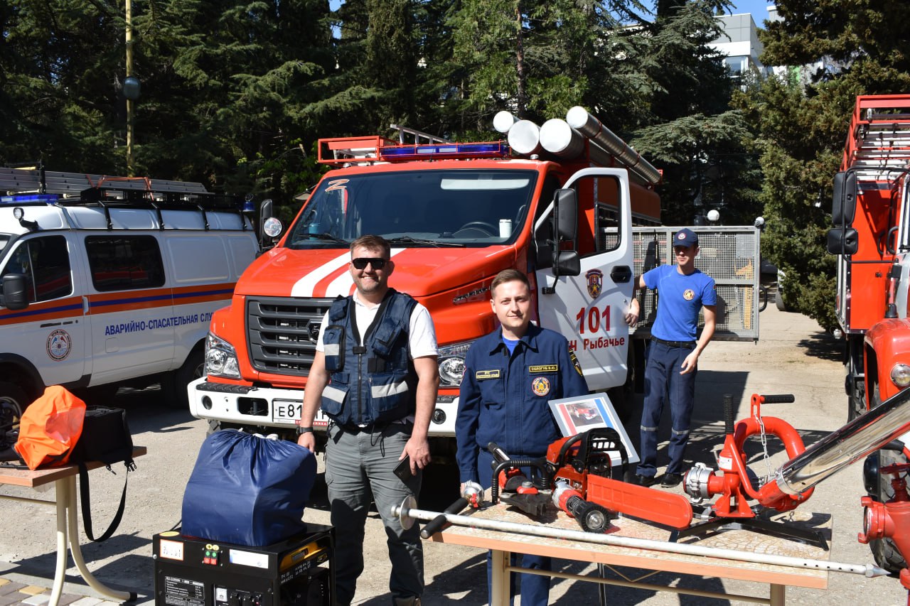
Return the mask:
[[[501,271],[493,279],[490,295],[501,327],[478,339],[468,351],[455,420],[462,489],[467,481],[490,488],[490,441],[512,458],[546,455],[547,447],[561,438],[550,400],[588,393],[566,338],[531,324],[528,277],[517,269]],[[521,566],[549,571],[551,562],[550,558],[525,555]],[[490,570],[488,558],[488,583]],[[520,576],[521,606],[545,606],[550,577]]]

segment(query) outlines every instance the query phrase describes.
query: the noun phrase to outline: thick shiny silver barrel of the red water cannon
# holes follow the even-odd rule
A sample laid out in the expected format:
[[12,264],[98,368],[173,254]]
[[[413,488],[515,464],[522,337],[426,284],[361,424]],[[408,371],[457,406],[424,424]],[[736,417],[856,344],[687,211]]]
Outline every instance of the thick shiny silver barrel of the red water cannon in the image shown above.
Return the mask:
[[910,389],[853,419],[784,463],[774,482],[785,494],[797,495],[910,429]]

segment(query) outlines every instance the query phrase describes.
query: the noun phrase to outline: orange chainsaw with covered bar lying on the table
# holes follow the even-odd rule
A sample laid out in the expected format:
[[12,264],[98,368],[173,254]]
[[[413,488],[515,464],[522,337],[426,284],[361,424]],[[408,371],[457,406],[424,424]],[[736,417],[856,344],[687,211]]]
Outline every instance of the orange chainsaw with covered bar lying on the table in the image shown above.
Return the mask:
[[692,506],[682,495],[612,480],[611,453],[617,453],[624,473],[629,460],[616,430],[590,429],[553,442],[547,463],[554,482],[565,482],[592,503],[674,529],[689,526]]

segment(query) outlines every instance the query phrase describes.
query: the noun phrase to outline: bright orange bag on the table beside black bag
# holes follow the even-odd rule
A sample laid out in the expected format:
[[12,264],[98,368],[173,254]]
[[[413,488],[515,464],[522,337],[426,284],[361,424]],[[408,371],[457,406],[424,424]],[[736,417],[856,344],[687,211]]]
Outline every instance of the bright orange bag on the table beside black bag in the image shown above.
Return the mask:
[[30,470],[66,465],[82,435],[85,417],[84,401],[52,385],[22,413],[15,451]]

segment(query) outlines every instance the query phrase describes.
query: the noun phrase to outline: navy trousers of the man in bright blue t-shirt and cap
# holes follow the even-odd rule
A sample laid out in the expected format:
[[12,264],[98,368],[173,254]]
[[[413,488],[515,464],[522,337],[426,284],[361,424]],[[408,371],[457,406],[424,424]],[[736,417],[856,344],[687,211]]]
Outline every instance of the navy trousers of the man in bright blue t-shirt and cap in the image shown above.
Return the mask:
[[667,448],[670,464],[667,473],[682,473],[682,456],[689,443],[689,425],[695,402],[695,375],[698,369],[684,375],[682,360],[692,348],[671,347],[652,341],[644,369],[644,409],[642,441],[636,473],[653,478],[657,474],[657,429],[661,425],[663,404],[670,399],[671,434]]

